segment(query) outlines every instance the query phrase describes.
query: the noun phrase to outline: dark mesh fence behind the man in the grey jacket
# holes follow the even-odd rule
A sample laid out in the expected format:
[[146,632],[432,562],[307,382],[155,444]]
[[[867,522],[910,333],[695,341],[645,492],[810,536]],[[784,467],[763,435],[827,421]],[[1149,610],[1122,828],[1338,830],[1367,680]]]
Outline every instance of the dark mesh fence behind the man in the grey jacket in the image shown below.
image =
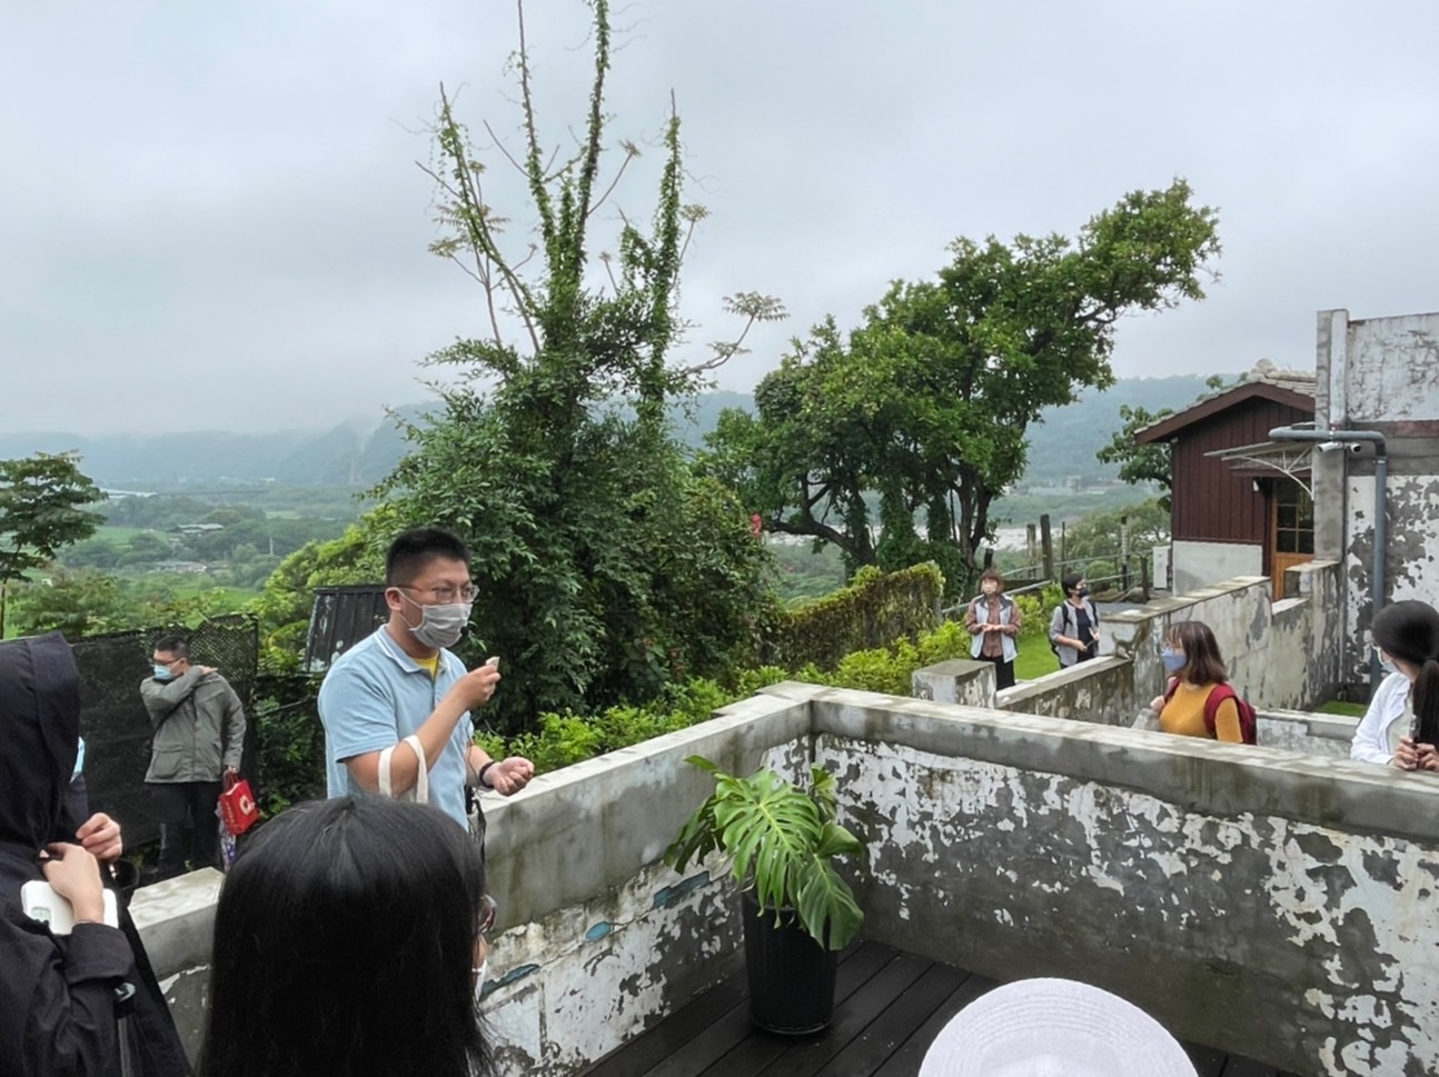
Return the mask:
[[[85,738],[85,785],[91,811],[104,811],[124,827],[125,847],[160,837],[150,817],[145,769],[150,766],[150,716],[140,682],[151,674],[150,656],[163,636],[190,643],[190,660],[214,666],[230,682],[246,715],[259,663],[259,631],[245,615],[216,617],[197,628],[147,628],[76,640],[81,674],[81,736]],[[248,723],[245,765],[256,758],[255,722]]]

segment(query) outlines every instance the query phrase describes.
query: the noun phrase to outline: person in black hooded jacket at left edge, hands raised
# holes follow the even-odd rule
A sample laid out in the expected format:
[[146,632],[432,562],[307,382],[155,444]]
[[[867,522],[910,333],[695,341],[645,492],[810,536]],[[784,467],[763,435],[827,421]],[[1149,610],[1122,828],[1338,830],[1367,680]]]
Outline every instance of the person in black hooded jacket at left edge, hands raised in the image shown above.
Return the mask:
[[[79,712],[59,633],[0,643],[0,1058],[24,1077],[189,1074],[128,913],[122,927],[102,923],[109,867],[86,845],[118,856],[119,828],[92,817],[76,831],[63,810]],[[71,902],[71,935],[26,915],[35,880]]]

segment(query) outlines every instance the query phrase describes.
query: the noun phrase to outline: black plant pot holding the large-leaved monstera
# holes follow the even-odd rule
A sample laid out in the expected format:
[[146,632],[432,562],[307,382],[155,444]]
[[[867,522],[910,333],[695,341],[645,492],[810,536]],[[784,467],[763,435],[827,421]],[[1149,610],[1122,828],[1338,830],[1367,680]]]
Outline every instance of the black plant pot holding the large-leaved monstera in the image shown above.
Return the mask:
[[744,959],[750,973],[754,1024],[781,1035],[817,1032],[835,1014],[835,950],[814,942],[793,909],[760,910],[754,894],[743,894]]

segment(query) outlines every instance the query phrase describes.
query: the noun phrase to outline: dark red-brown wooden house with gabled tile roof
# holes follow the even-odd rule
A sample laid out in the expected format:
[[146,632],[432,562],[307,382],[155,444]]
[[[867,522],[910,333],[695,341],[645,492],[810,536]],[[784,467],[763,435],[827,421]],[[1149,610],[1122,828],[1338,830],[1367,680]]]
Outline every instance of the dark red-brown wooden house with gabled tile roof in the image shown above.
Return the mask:
[[1168,443],[1170,577],[1176,592],[1236,575],[1269,575],[1314,555],[1308,446],[1274,443],[1279,426],[1314,421],[1314,375],[1261,361],[1232,388],[1135,436]]

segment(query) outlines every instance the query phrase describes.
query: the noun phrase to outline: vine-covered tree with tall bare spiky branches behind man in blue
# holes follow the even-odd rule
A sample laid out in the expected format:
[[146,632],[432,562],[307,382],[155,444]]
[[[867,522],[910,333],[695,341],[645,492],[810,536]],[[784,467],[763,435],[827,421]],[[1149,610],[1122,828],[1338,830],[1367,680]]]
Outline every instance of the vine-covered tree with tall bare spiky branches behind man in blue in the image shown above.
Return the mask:
[[456,368],[459,384],[442,391],[430,421],[409,426],[414,449],[377,490],[400,519],[449,525],[469,541],[484,640],[475,653],[505,656],[511,676],[491,713],[511,728],[717,670],[750,640],[766,602],[748,519],[732,495],[689,472],[665,405],[743,351],[750,326],[784,311],[770,296],[734,295],[725,305],[743,319],[738,336],[676,355],[686,329],[679,273],[705,211],[684,200],[673,101],[650,226],[619,211],[614,250],[593,253],[597,211],[617,204],[639,148],[607,148],[609,4],[590,7],[593,83],[564,155],[541,141],[519,6],[518,148],[486,125],[501,167],[518,170],[530,193],[535,232],[518,244],[486,203],[485,165],[440,89],[439,164],[426,171],[448,234],[432,250],[475,279],[488,325],[430,357]]

